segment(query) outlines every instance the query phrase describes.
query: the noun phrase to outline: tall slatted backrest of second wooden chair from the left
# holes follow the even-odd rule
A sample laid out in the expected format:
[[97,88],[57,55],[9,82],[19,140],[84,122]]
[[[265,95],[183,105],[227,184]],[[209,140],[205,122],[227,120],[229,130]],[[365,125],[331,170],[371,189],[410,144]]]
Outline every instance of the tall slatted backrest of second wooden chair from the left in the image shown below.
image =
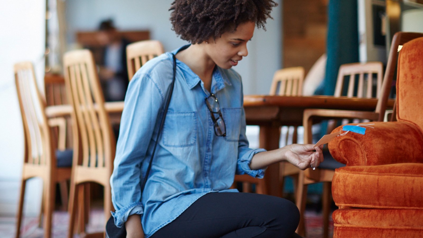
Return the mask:
[[93,55],[89,50],[68,52],[64,65],[82,145],[80,166],[110,168],[115,143]]

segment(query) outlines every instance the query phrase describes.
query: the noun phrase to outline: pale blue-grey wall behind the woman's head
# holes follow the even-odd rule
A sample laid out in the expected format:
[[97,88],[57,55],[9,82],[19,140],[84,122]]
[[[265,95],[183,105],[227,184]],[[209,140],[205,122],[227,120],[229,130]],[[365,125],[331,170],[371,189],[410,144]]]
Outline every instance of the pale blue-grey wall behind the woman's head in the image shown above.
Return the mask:
[[[67,39],[74,42],[77,30],[95,30],[103,19],[113,18],[121,30],[148,29],[151,39],[161,41],[166,51],[187,44],[171,30],[173,0],[72,0],[66,1]],[[268,94],[273,73],[281,63],[281,3],[267,21],[267,31],[256,29],[248,43],[249,55],[235,69],[242,75],[244,94]]]

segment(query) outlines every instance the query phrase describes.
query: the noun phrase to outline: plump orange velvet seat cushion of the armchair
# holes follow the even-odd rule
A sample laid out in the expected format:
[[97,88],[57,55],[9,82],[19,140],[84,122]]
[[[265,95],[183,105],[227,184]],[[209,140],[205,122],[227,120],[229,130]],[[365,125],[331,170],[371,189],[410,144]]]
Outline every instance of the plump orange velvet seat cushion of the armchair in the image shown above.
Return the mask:
[[340,208],[423,209],[423,163],[335,169],[332,196]]

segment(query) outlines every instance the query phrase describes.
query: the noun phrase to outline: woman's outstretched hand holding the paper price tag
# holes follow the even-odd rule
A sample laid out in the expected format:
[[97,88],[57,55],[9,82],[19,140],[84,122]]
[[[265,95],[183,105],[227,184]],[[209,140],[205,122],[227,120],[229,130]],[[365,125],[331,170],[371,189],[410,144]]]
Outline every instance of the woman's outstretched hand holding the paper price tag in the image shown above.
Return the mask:
[[[310,165],[317,167],[323,161],[323,145],[315,148],[312,147],[313,144],[287,145],[283,147],[285,150],[285,160],[302,170],[310,168]],[[316,151],[314,151],[315,149]]]

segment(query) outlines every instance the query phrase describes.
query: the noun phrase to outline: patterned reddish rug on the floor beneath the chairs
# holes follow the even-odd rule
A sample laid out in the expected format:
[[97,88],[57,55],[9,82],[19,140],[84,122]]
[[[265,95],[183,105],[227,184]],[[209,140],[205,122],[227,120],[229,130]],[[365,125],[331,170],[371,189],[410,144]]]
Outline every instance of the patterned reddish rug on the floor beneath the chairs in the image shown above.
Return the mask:
[[[69,216],[66,211],[55,211],[53,214],[53,238],[64,238],[67,236]],[[315,211],[306,211],[305,224],[307,226],[307,238],[321,238],[323,235],[323,222],[321,213]],[[333,221],[330,217],[330,237],[333,232]],[[0,237],[12,238],[14,237],[16,226],[16,219],[14,217],[0,217]],[[101,209],[92,209],[90,214],[90,221],[87,227],[88,233],[100,232],[104,226],[104,213]],[[38,228],[37,217],[25,217],[21,228],[22,238],[42,238],[43,229]],[[74,238],[79,238],[74,235]]]

